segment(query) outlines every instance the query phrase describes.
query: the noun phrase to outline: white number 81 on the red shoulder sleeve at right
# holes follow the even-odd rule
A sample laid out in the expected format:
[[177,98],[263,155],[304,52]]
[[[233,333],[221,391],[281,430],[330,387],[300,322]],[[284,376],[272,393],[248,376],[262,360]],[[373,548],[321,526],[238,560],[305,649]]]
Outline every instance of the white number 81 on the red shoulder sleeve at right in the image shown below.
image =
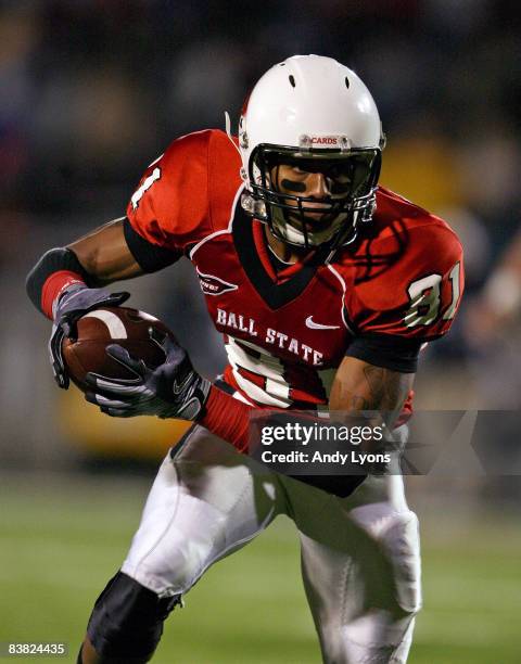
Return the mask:
[[[448,274],[453,297],[446,311],[443,314],[443,320],[450,320],[456,314],[460,295],[459,284],[459,261],[453,267]],[[441,297],[442,276],[429,274],[414,281],[407,293],[409,295],[409,308],[405,315],[404,321],[408,328],[416,325],[430,325],[440,316],[440,307],[442,306]]]

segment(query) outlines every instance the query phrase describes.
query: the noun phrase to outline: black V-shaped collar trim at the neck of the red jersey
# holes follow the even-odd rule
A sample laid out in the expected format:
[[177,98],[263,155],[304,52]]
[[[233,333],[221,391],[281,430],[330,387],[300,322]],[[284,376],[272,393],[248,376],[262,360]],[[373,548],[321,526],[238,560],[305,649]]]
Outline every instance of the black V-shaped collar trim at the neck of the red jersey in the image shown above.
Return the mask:
[[253,221],[253,218],[238,205],[232,225],[233,243],[241,265],[257,293],[271,310],[279,309],[302,295],[315,277],[317,269],[325,265],[330,252],[318,250],[296,274],[283,283],[274,283],[255,248]]

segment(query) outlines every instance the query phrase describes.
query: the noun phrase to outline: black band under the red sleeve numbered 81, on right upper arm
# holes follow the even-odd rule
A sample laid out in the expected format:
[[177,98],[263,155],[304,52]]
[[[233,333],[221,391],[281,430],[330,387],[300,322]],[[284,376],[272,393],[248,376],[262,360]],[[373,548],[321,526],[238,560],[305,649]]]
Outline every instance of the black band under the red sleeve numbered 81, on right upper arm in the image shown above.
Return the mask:
[[391,334],[368,334],[353,340],[345,355],[401,373],[416,373],[422,341]]

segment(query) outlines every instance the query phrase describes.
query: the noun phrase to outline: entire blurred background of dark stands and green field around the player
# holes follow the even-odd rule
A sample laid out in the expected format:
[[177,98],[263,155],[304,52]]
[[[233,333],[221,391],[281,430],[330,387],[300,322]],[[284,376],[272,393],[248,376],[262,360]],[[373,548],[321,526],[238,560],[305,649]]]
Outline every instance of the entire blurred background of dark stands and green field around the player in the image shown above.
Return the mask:
[[[382,182],[462,238],[462,311],[423,357],[417,407],[519,409],[519,317],[491,331],[471,315],[520,226],[519,15],[512,0],[1,3],[0,641],[76,650],[157,460],[182,431],[115,422],[74,390],[60,393],[25,274],[46,248],[120,216],[173,138],[223,127],[226,110],[237,118],[259,74],[290,54],[332,55],[360,74],[387,133]],[[223,366],[187,266],[130,290],[200,370]],[[411,664],[521,661],[519,478],[462,472],[408,485],[425,585]],[[220,563],[176,612],[155,661],[318,662],[297,557],[281,522]]]

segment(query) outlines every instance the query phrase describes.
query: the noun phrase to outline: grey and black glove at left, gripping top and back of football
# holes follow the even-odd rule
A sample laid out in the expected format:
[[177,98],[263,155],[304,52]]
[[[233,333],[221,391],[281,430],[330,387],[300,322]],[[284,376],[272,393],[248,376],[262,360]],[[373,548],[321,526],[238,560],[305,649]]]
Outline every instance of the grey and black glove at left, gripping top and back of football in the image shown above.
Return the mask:
[[66,336],[74,336],[76,321],[93,309],[117,307],[129,297],[130,293],[109,293],[104,289],[89,289],[81,284],[71,286],[60,296],[54,305],[54,322],[49,340],[51,367],[59,387],[67,390],[69,385],[62,343]]

